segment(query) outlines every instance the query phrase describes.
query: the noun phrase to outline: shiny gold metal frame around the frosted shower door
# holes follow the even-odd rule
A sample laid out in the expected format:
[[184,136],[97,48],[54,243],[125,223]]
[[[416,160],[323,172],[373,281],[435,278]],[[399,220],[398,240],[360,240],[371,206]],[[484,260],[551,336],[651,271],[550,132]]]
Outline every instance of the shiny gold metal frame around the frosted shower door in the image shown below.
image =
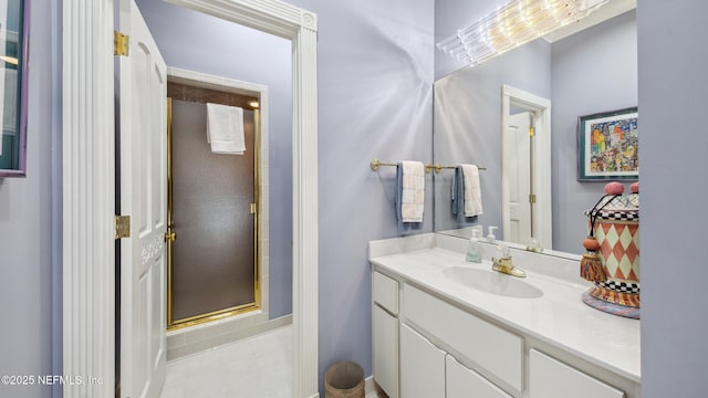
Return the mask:
[[237,305],[229,308],[212,311],[206,314],[175,320],[173,316],[173,265],[175,259],[175,235],[174,213],[173,213],[173,98],[167,97],[167,329],[174,331],[183,327],[200,325],[204,323],[239,315],[242,313],[259,310],[261,307],[261,285],[260,285],[260,253],[259,238],[261,232],[260,220],[260,151],[261,151],[261,114],[259,109],[253,109],[253,203],[251,213],[253,214],[253,302]]

